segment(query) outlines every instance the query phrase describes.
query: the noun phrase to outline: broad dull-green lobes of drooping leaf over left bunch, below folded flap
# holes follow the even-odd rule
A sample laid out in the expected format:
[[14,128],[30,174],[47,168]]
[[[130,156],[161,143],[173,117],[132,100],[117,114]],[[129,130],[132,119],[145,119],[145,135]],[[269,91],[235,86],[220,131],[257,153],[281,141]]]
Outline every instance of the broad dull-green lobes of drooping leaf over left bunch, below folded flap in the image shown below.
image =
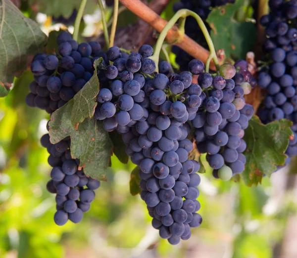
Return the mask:
[[57,143],[66,136],[71,138],[71,156],[80,159],[79,168],[99,180],[105,180],[106,169],[112,153],[112,142],[103,129],[102,122],[95,118],[86,119],[75,130],[71,124],[73,100],[53,112],[49,122],[51,143]]

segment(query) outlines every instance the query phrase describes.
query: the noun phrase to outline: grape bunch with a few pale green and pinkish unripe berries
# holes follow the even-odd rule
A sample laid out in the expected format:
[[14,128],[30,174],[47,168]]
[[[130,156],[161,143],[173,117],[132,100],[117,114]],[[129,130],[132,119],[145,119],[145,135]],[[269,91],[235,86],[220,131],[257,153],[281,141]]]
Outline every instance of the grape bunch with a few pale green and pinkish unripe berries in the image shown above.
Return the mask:
[[198,150],[207,153],[206,160],[216,178],[229,180],[245,169],[243,152],[247,144],[242,138],[254,110],[246,104],[244,95],[250,92],[252,82],[244,60],[236,62],[235,66],[224,64],[220,75],[202,73],[198,77],[203,102],[192,125],[196,128]]

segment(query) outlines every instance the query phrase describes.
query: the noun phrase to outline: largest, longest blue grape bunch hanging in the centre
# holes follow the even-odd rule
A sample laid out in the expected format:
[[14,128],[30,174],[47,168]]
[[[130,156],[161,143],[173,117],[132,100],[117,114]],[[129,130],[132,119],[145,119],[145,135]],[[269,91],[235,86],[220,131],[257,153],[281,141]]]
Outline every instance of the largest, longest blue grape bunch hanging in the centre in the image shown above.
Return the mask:
[[[118,48],[112,49],[112,53],[120,53]],[[148,76],[155,69],[148,58],[152,53],[149,45],[131,53],[123,68],[113,69],[118,78],[110,76],[107,67],[99,71],[99,77],[106,77],[109,83],[99,90],[95,117],[103,120],[105,130],[122,134],[126,153],[140,166],[141,197],[153,217],[153,227],[169,243],[178,244],[180,239],[190,238],[190,227],[202,221],[196,213],[200,209],[196,200],[200,165],[188,160],[193,144],[187,139],[191,131],[188,121],[194,119],[201,104],[201,88],[191,87],[189,72],[168,78],[171,67],[164,61],[160,63],[163,73]],[[114,66],[121,58],[120,54],[116,57],[112,57]],[[151,60],[152,69],[147,68],[146,59]],[[199,62],[196,69],[203,71],[203,63]]]

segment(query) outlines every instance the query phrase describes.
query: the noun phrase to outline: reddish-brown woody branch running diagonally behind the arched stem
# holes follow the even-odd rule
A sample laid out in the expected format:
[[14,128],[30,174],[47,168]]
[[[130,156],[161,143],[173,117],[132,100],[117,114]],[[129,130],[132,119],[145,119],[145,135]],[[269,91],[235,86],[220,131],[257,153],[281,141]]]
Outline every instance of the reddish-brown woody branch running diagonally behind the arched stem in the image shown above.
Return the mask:
[[[151,10],[141,0],[120,0],[120,2],[158,32],[161,32],[167,24],[166,20]],[[209,51],[189,38],[187,35],[182,36],[182,32],[179,31],[177,26],[172,27],[168,31],[166,40],[171,44],[179,46],[194,58],[198,58],[203,63],[206,63]],[[219,62],[221,61],[222,60],[220,59]],[[210,62],[210,69],[216,70],[213,61]]]

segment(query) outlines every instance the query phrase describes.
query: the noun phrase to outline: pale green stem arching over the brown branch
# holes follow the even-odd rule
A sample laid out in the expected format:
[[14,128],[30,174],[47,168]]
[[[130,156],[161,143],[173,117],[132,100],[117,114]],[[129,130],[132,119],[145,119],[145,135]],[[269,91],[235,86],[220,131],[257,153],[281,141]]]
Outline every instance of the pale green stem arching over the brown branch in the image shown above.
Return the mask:
[[[213,42],[210,38],[210,35],[207,31],[207,28],[205,26],[205,24],[203,23],[202,19],[200,18],[200,16],[193,12],[193,11],[190,11],[188,9],[181,9],[179,10],[178,12],[175,13],[175,15],[168,21],[168,23],[166,24],[166,26],[164,27],[164,29],[162,30],[162,32],[160,33],[159,35],[159,38],[157,40],[157,43],[156,43],[156,47],[155,47],[155,51],[154,51],[154,54],[149,57],[150,59],[152,59],[155,63],[156,63],[156,72],[159,72],[158,71],[158,61],[159,61],[159,55],[160,55],[160,51],[161,51],[161,48],[162,48],[162,45],[163,45],[163,42],[167,36],[167,33],[169,32],[169,30],[174,26],[174,24],[178,21],[178,19],[180,18],[186,18],[187,16],[192,16],[196,19],[203,35],[204,35],[204,38],[207,42],[207,45],[208,45],[208,48],[209,48],[209,51],[210,51],[210,55],[212,56],[212,60],[217,68],[217,70],[219,70],[219,61],[218,61],[218,58],[216,56],[216,52],[215,52],[215,48],[214,48],[214,45],[213,45]],[[184,21],[181,21],[180,24],[179,24],[179,27],[181,29],[181,26],[184,25]],[[183,29],[182,29],[183,31]],[[183,34],[181,33],[181,36],[183,36]],[[181,37],[182,38],[182,37]]]

